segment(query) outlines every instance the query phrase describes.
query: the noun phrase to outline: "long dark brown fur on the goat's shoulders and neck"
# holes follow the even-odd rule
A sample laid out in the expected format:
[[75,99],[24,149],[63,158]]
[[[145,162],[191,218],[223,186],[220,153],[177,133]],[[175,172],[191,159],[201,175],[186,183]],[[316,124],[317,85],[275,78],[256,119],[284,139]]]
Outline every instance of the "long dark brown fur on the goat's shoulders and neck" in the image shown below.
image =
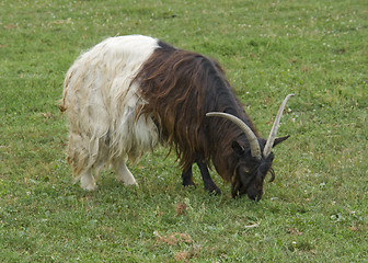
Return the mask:
[[[238,126],[223,118],[208,118],[208,112],[226,112],[255,128],[233,94],[223,70],[214,60],[160,43],[136,77],[163,137],[176,150],[180,165],[214,162],[226,181],[231,181],[238,157],[231,144],[246,138]],[[242,145],[248,148],[248,145]]]

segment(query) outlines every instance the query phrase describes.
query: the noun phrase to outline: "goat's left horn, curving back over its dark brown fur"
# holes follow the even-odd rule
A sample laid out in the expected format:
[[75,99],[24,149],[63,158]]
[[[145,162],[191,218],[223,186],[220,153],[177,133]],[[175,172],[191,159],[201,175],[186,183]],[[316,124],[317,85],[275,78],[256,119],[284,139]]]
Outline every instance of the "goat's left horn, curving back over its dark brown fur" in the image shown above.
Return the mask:
[[210,113],[207,113],[206,116],[207,117],[214,117],[214,116],[225,117],[225,118],[233,122],[234,124],[237,124],[239,126],[239,128],[241,128],[241,130],[243,130],[243,133],[246,136],[246,139],[250,144],[250,147],[251,147],[252,157],[261,160],[262,157],[261,157],[261,147],[260,147],[260,144],[258,144],[258,139],[255,136],[255,134],[253,133],[253,130],[243,121],[241,121],[240,118],[238,118],[233,115],[230,115],[228,113],[221,113],[221,112],[210,112]]

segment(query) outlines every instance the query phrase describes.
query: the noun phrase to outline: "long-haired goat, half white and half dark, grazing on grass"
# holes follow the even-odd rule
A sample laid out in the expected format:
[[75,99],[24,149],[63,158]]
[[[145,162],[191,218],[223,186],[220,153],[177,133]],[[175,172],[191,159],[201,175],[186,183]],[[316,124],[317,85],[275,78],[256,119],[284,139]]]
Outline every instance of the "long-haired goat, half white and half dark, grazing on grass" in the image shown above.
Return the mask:
[[[288,95],[267,140],[258,137],[221,67],[203,55],[141,35],[111,37],[82,54],[67,72],[60,110],[69,115],[67,160],[84,190],[111,163],[116,178],[136,184],[126,167],[160,142],[175,149],[183,185],[197,163],[205,188],[220,193],[210,163],[232,196],[261,199],[272,148]],[[218,117],[217,117],[218,116]]]

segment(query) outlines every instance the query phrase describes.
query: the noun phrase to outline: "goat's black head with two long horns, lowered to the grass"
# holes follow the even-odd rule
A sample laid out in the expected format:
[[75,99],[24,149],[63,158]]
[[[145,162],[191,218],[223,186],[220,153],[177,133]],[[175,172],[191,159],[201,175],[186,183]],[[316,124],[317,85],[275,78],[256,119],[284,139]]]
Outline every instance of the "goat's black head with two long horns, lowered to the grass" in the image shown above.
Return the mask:
[[[272,175],[269,181],[274,181],[275,173],[272,169],[274,153],[272,148],[289,137],[276,138],[276,134],[286,102],[292,95],[287,95],[280,105],[267,140],[257,138],[244,122],[233,115],[218,112],[206,114],[207,116],[225,117],[233,122],[242,129],[248,140],[245,142],[234,140],[231,145],[237,160],[231,165],[233,169],[231,180],[233,197],[246,194],[251,199],[260,201],[263,195],[263,182],[268,172]],[[249,148],[242,145],[248,145]]]

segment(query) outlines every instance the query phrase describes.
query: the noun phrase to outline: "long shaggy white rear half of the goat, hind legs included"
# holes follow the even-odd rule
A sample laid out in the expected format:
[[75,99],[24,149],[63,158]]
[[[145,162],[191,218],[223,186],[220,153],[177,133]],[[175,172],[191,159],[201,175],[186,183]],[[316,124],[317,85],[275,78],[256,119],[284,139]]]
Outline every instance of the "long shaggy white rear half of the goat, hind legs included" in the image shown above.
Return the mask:
[[92,175],[112,162],[116,176],[136,184],[126,167],[158,144],[151,117],[134,119],[145,101],[131,80],[158,47],[158,41],[133,35],[111,37],[82,54],[67,72],[64,106],[69,115],[67,159],[85,190],[96,187]]

